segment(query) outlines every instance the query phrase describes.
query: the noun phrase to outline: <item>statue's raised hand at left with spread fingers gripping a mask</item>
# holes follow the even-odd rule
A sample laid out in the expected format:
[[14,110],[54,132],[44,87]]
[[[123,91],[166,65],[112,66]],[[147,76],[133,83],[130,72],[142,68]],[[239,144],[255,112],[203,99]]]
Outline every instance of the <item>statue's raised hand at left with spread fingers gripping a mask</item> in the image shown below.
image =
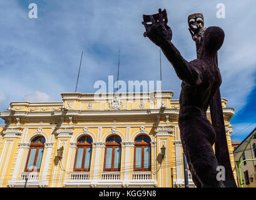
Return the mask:
[[164,41],[172,40],[172,29],[164,23],[161,9],[159,9],[158,21],[155,21],[153,16],[150,16],[150,21],[151,24],[147,24],[145,21],[142,22],[146,28],[146,32],[143,34],[144,37],[148,37],[157,46],[161,46]]

